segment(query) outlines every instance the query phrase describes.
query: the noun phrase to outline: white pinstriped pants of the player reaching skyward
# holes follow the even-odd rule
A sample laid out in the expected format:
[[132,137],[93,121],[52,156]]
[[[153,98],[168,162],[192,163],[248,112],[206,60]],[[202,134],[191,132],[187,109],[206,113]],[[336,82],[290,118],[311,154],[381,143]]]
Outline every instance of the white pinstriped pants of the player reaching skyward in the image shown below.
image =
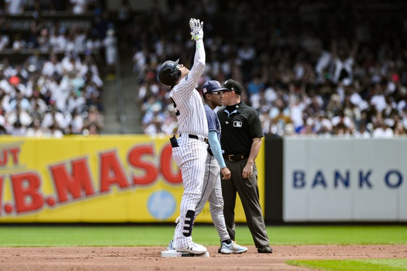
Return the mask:
[[184,193],[180,205],[180,222],[178,223],[174,238],[174,248],[185,248],[192,243],[192,236],[184,236],[183,228],[190,221],[186,220],[188,210],[195,211],[196,204],[201,197],[205,162],[208,156],[208,144],[205,142],[180,136],[179,147],[172,148],[172,158],[181,169]]

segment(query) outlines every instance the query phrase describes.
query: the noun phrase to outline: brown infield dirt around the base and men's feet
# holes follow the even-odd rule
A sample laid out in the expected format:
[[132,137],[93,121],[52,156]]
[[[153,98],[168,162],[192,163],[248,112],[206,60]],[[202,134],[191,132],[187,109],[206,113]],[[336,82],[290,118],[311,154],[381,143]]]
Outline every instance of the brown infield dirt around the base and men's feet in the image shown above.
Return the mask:
[[407,245],[273,246],[273,254],[254,247],[222,255],[208,247],[209,258],[161,258],[163,247],[0,248],[0,270],[308,270],[286,260],[407,258]]

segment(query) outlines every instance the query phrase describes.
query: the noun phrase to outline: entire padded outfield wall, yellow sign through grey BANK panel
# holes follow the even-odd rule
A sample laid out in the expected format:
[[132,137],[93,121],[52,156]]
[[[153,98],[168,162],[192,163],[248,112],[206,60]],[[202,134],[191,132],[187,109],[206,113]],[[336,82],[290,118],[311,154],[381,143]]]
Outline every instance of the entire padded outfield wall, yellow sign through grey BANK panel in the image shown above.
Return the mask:
[[[263,142],[267,222],[407,221],[407,138]],[[173,222],[182,193],[167,137],[0,138],[0,223]],[[246,221],[239,199],[235,214]]]

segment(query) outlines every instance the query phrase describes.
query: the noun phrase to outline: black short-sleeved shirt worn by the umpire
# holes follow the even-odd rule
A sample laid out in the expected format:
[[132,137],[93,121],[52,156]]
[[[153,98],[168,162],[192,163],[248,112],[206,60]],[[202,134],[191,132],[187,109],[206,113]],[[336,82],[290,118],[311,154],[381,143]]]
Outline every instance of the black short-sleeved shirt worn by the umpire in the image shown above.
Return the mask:
[[226,155],[250,154],[253,138],[263,137],[257,111],[244,102],[218,111],[222,149]]

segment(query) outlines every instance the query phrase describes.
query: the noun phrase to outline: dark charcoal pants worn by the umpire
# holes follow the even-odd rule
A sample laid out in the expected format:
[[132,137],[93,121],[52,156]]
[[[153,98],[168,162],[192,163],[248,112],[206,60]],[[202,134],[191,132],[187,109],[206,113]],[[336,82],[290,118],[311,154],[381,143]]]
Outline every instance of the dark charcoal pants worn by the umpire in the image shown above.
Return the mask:
[[230,238],[235,240],[235,205],[237,192],[242,201],[247,225],[253,236],[254,245],[256,248],[269,245],[269,237],[267,236],[258,195],[256,164],[253,164],[251,177],[244,179],[242,172],[247,163],[247,158],[239,161],[228,161],[225,159],[225,163],[230,170],[231,177],[227,180],[221,180],[224,201],[223,215]]

